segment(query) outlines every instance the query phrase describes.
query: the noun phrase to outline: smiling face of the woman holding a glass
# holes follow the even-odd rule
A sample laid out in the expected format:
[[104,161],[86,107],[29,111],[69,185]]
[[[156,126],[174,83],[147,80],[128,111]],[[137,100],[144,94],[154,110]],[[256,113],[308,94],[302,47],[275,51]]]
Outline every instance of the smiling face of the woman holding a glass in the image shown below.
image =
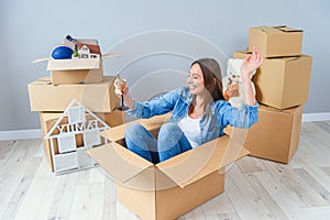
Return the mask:
[[193,95],[202,95],[205,91],[204,76],[199,64],[194,64],[187,79],[189,90]]

